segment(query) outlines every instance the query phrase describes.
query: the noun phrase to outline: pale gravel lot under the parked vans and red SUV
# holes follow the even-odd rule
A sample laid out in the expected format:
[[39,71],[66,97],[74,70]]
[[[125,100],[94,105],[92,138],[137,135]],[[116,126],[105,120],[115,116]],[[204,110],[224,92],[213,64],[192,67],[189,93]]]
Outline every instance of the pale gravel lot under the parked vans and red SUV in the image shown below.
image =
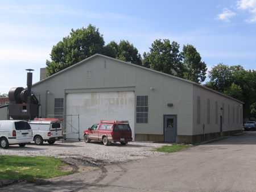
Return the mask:
[[163,155],[164,153],[150,151],[151,149],[162,147],[162,145],[168,144],[132,141],[127,145],[112,143],[105,146],[96,141],[85,143],[84,141],[66,140],[64,143],[56,141],[53,145],[49,145],[46,142],[43,145],[31,143],[23,148],[19,147],[19,145],[10,145],[8,149],[0,148],[0,155],[54,156],[65,159],[90,158],[105,162],[125,162],[149,156]]

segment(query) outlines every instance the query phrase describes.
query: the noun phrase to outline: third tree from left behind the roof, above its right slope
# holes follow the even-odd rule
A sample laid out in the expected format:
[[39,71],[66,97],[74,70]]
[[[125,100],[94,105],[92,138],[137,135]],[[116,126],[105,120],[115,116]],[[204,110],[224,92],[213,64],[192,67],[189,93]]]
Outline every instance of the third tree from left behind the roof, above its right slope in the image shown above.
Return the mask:
[[143,53],[142,65],[158,70],[159,72],[183,77],[184,66],[181,62],[182,57],[179,52],[180,45],[169,39],[156,39],[151,44],[150,52]]

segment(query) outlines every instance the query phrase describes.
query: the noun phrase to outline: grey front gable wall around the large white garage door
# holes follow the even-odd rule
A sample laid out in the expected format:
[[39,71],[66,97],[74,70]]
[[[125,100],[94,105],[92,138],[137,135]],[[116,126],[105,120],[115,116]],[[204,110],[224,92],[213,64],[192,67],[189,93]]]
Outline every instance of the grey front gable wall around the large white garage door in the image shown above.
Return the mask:
[[177,115],[177,134],[192,135],[192,84],[105,57],[85,62],[32,86],[40,95],[39,116],[46,116],[46,102],[47,114],[54,114],[54,99],[65,102],[65,93],[134,90],[135,99],[148,95],[148,123],[136,123],[135,111],[135,134],[163,135],[163,115]]

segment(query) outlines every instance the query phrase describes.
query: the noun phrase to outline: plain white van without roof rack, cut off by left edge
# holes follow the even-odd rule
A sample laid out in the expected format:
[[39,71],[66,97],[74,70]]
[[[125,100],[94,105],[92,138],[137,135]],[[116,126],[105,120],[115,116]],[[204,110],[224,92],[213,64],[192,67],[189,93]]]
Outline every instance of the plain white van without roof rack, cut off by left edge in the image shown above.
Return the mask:
[[8,148],[9,145],[19,144],[24,147],[33,141],[30,124],[25,120],[0,120],[0,145]]

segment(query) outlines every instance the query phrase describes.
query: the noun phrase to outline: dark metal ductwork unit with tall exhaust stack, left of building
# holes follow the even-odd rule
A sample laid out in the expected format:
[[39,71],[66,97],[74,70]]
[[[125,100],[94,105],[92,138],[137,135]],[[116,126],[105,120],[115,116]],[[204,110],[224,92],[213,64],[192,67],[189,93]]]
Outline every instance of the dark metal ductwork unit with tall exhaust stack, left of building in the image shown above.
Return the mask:
[[39,101],[35,95],[31,93],[31,71],[33,69],[26,70],[28,70],[27,89],[23,87],[13,87],[9,91],[9,115],[13,119],[32,120],[38,117]]

